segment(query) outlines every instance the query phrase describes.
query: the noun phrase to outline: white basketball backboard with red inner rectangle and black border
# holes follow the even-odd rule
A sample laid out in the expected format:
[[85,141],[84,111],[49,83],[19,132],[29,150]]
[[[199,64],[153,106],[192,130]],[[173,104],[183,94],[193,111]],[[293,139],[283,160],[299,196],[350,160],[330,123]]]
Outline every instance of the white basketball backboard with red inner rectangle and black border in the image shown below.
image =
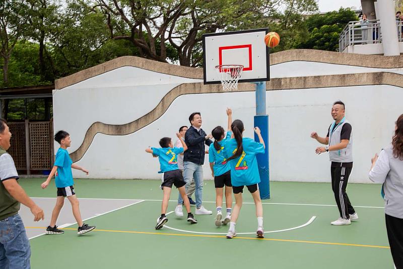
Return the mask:
[[218,65],[243,65],[239,82],[270,80],[268,28],[203,35],[204,83],[221,83]]

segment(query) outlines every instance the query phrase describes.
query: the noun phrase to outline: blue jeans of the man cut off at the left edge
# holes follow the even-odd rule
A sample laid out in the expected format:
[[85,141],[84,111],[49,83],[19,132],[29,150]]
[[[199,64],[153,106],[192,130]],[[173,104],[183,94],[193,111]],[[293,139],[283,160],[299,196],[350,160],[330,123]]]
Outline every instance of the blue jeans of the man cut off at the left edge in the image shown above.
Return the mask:
[[31,247],[19,214],[0,221],[0,268],[30,269]]

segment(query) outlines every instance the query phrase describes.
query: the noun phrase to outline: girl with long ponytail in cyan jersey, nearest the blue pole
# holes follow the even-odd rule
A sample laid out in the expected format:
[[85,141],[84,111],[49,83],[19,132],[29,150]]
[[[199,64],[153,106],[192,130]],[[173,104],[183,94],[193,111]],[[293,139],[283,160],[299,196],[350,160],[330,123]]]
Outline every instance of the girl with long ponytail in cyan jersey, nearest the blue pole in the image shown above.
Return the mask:
[[260,200],[258,183],[260,182],[259,171],[257,168],[256,154],[264,153],[264,141],[258,127],[254,128],[255,133],[259,137],[259,142],[255,142],[251,138],[242,138],[244,131],[243,123],[235,120],[231,124],[233,139],[224,143],[224,156],[231,166],[231,183],[235,196],[235,206],[232,211],[230,229],[227,238],[236,236],[235,224],[238,220],[239,212],[242,207],[242,192],[246,186],[252,194],[253,201],[256,206],[257,217],[257,237],[263,238],[263,207]]

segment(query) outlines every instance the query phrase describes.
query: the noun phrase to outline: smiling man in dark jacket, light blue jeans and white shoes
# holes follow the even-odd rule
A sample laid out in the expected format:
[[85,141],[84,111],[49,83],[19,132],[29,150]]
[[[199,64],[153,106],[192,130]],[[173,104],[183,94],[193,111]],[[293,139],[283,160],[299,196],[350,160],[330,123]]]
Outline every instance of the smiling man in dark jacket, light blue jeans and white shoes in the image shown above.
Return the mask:
[[[201,129],[201,115],[199,112],[192,113],[189,117],[191,127],[186,131],[185,143],[187,150],[184,152],[183,157],[183,177],[185,179],[186,191],[189,188],[192,178],[196,184],[195,197],[196,197],[196,215],[211,215],[212,211],[207,210],[203,202],[203,165],[205,163],[205,144],[210,146],[213,141],[210,139],[212,135],[207,135]],[[182,198],[178,199],[178,205],[175,208],[176,216],[183,216],[182,212]]]

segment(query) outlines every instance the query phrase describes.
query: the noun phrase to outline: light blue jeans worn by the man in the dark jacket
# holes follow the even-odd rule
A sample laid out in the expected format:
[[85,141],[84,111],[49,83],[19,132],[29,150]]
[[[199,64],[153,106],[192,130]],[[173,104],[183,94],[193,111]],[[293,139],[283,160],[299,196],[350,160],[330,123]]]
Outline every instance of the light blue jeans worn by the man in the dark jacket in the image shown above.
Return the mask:
[[[194,179],[194,183],[196,184],[196,190],[194,191],[196,208],[200,208],[203,201],[203,167],[192,162],[183,162],[183,178],[186,182],[186,193],[190,182]],[[182,197],[179,195],[178,204],[182,204],[182,202]]]

